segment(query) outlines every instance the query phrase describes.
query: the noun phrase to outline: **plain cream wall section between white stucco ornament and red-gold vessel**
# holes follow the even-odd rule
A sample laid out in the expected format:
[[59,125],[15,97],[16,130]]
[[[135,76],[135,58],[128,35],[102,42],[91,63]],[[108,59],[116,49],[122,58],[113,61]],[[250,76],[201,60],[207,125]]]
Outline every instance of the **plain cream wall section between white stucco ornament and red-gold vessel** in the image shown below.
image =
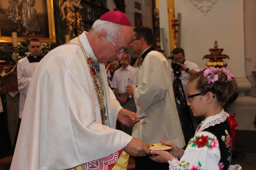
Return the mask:
[[[208,61],[203,56],[210,54],[215,40],[224,59],[237,77],[245,75],[243,1],[218,0],[204,15],[191,1],[175,0],[175,14],[181,13],[181,48],[187,60],[204,67]],[[179,22],[179,21],[178,21]]]

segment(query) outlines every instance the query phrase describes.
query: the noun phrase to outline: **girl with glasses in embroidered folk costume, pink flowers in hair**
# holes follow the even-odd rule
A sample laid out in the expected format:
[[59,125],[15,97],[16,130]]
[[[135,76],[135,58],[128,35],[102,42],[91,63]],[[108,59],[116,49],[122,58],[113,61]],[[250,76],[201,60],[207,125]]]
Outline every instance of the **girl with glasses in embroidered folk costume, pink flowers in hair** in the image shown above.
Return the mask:
[[[186,150],[171,142],[170,152],[151,151],[156,162],[169,163],[169,169],[239,169],[230,166],[234,149],[234,127],[238,125],[233,115],[224,111],[224,105],[237,90],[234,75],[226,68],[205,67],[192,75],[188,82],[188,102],[194,116],[204,116]],[[235,114],[234,114],[235,115]]]

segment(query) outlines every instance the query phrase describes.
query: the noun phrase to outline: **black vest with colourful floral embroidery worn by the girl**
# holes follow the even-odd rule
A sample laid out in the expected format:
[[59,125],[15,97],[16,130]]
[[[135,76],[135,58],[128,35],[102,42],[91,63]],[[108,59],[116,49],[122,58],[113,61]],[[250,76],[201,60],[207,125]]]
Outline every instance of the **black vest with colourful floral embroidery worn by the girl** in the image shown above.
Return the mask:
[[203,131],[214,134],[219,142],[219,149],[221,151],[221,160],[219,160],[220,170],[227,170],[230,166],[232,156],[232,136],[229,129],[228,121],[220,124],[215,124]]

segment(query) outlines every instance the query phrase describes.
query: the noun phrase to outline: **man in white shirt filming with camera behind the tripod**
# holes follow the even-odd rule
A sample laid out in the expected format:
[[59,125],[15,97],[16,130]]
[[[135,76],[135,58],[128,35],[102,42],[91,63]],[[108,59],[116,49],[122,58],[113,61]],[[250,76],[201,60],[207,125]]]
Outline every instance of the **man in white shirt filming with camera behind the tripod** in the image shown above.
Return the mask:
[[[174,72],[179,72],[177,75],[174,73],[175,77],[180,76],[181,84],[184,89],[184,95],[187,96],[187,83],[188,79],[191,77],[191,75],[195,74],[196,72],[200,71],[199,66],[196,63],[189,62],[185,58],[185,53],[184,50],[180,47],[177,47],[172,50],[173,54],[173,64],[172,64],[172,69]],[[175,82],[174,82],[175,83]],[[200,117],[195,117],[193,116],[193,113],[191,112],[191,109],[187,107],[187,103],[183,103],[183,113],[181,113],[181,103],[178,99],[176,99],[176,106],[177,110],[180,116],[182,128],[185,128],[186,134],[184,134],[185,139],[190,139],[194,132],[191,132],[191,127],[190,127],[190,122],[194,126],[194,130],[197,128],[198,124],[201,123],[201,118]],[[191,119],[189,118],[189,115]],[[184,120],[183,120],[184,117]],[[184,125],[185,124],[185,127]],[[186,141],[188,142],[188,141]]]

